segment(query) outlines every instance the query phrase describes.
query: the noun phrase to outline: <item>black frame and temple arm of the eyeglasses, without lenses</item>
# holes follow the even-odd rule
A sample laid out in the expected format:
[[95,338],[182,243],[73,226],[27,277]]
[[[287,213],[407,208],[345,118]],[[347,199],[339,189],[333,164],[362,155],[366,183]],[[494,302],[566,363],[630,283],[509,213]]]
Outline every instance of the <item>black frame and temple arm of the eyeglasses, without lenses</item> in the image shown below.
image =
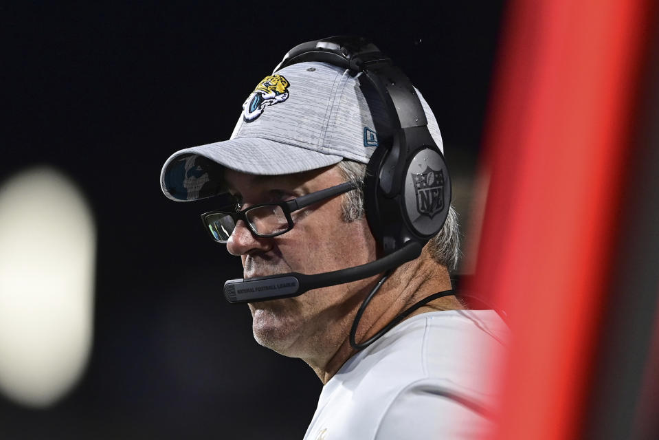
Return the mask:
[[[324,188],[319,191],[311,192],[309,194],[305,194],[300,197],[295,197],[295,199],[292,200],[276,201],[271,203],[260,203],[258,205],[249,206],[249,208],[245,208],[240,211],[214,210],[214,211],[204,212],[203,214],[201,214],[201,221],[203,222],[203,226],[206,232],[210,234],[211,238],[216,243],[226,244],[228,240],[216,239],[212,231],[210,230],[210,224],[207,221],[207,219],[208,217],[214,214],[228,215],[234,220],[234,223],[236,223],[236,225],[238,224],[238,220],[242,220],[246,225],[249,226],[249,230],[252,231],[252,234],[254,234],[255,236],[261,238],[271,238],[273,236],[285,234],[286,232],[289,232],[289,230],[293,229],[293,225],[295,225],[295,223],[291,218],[291,212],[300,210],[302,208],[306,208],[307,206],[313,205],[313,203],[317,203],[325,199],[330,199],[331,197],[336,197],[337,195],[342,195],[344,192],[348,192],[356,189],[357,186],[355,184],[346,181],[342,184],[330,186],[329,188]],[[263,208],[263,206],[279,206],[282,209],[282,212],[284,212],[284,217],[286,217],[286,220],[289,223],[288,228],[280,232],[273,232],[272,234],[259,234],[258,232],[256,232],[256,228],[254,227],[254,225],[252,225],[252,223],[249,220],[247,220],[247,212],[249,212],[250,210],[254,210],[256,208]]]

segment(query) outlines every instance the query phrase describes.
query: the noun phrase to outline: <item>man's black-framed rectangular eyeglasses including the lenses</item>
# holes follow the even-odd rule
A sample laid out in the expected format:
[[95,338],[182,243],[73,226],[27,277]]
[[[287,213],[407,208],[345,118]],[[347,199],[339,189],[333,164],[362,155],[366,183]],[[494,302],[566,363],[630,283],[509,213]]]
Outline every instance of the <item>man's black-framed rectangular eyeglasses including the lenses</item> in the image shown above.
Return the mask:
[[324,190],[311,192],[297,197],[293,200],[280,201],[276,203],[261,203],[250,206],[241,211],[210,211],[201,214],[203,227],[210,233],[214,241],[226,243],[229,240],[238,220],[242,220],[252,233],[260,237],[272,237],[284,234],[293,229],[291,212],[306,208],[306,206],[317,203],[324,199],[336,197],[357,186],[351,182],[344,182],[337,186],[331,186]]

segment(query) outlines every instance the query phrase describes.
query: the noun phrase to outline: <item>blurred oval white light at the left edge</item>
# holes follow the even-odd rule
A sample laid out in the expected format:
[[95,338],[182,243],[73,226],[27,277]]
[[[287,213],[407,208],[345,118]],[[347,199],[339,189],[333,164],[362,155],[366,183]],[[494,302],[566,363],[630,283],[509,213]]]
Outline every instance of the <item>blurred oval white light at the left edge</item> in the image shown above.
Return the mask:
[[0,186],[0,392],[44,407],[91,349],[96,228],[80,191],[52,168]]

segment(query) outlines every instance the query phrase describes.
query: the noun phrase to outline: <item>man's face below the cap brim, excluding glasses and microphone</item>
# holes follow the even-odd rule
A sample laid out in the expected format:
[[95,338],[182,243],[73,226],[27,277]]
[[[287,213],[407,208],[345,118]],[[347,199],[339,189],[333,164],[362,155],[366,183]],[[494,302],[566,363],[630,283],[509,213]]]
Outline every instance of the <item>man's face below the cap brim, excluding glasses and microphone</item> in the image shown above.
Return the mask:
[[[342,183],[336,166],[282,176],[255,176],[226,170],[225,179],[242,207],[300,197]],[[337,196],[291,214],[293,229],[280,236],[254,236],[243,221],[227,242],[243,260],[243,276],[287,272],[319,274],[375,259],[375,240],[366,219],[346,223]],[[315,289],[295,298],[250,303],[252,329],[259,344],[284,355],[313,358],[330,349],[350,326],[346,314],[361,301],[372,280]]]

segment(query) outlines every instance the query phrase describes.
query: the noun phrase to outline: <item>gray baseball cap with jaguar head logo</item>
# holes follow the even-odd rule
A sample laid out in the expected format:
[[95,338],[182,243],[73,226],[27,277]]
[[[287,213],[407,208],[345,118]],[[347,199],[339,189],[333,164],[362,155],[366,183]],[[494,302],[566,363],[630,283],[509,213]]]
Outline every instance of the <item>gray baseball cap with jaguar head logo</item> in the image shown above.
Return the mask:
[[[255,175],[300,173],[342,159],[368,163],[388,115],[375,91],[346,69],[298,63],[267,76],[247,97],[229,140],[177,151],[160,185],[167,197],[189,201],[225,192],[223,167]],[[365,95],[366,94],[366,95]],[[420,93],[428,129],[443,151],[437,121]]]

